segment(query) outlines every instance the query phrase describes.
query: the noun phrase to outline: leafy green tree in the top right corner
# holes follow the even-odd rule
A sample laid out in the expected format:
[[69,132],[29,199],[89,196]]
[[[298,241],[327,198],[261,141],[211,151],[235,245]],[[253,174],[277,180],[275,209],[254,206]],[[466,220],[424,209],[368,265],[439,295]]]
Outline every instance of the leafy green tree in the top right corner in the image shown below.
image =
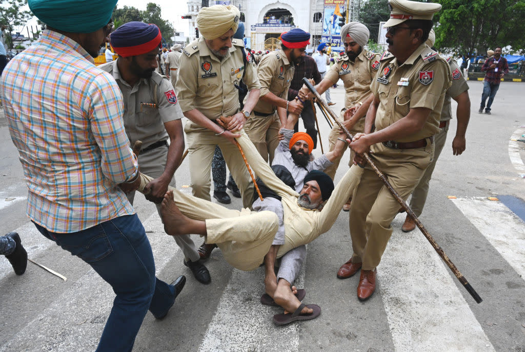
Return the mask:
[[495,46],[525,48],[525,0],[437,0],[436,47],[485,53]]

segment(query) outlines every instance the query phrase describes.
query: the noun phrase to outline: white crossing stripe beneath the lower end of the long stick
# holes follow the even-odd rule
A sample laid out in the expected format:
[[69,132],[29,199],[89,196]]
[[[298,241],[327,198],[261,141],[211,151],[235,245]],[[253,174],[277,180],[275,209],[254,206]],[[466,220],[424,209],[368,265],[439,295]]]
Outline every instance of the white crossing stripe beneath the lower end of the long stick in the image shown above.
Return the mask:
[[494,351],[442,259],[418,229],[402,233],[405,215],[377,267],[397,352]]

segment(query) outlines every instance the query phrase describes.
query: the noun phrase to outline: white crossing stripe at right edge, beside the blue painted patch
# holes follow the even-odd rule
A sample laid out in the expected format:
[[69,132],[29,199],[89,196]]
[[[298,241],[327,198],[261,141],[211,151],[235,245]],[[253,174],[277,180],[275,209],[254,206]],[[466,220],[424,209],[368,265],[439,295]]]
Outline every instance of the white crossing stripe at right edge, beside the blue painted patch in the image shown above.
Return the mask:
[[525,280],[525,223],[505,204],[486,198],[452,200],[490,244]]

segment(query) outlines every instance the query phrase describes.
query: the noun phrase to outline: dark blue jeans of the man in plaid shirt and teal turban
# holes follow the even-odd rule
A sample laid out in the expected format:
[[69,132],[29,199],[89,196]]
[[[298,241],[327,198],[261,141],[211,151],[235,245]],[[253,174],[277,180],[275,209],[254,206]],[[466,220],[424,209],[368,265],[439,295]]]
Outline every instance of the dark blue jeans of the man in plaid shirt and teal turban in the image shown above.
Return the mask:
[[163,317],[173,305],[175,288],[155,278],[153,252],[137,214],[69,234],[35,226],[87,262],[117,294],[97,351],[131,351],[148,309]]

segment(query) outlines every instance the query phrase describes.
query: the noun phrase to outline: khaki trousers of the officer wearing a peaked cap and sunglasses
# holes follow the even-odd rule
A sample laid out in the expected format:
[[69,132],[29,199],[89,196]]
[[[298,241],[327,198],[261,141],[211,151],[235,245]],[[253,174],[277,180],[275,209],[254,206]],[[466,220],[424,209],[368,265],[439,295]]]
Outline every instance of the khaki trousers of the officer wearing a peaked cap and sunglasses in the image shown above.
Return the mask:
[[[433,158],[434,144],[419,149],[390,149],[378,143],[371,155],[394,190],[406,201]],[[350,235],[353,262],[363,262],[363,270],[373,270],[392,235],[392,220],[399,211],[383,181],[366,165],[350,208]]]

